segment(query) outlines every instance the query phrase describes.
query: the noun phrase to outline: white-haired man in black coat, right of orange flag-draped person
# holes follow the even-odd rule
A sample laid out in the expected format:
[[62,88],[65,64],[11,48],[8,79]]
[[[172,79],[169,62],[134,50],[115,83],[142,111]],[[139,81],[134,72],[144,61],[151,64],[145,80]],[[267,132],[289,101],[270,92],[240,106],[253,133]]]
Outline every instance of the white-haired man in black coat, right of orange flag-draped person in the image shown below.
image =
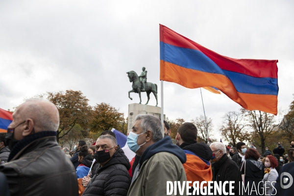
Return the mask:
[[[211,143],[210,148],[212,150],[211,162],[215,162],[212,165],[213,177],[212,180],[215,183],[220,183],[224,181],[234,181],[232,193],[241,196],[242,187],[240,187],[241,192],[239,193],[239,185],[242,186],[242,176],[237,164],[229,159],[226,155],[226,148],[221,142]],[[221,184],[222,186],[222,184]],[[230,193],[229,183],[225,185],[225,190],[222,193]],[[222,194],[219,194],[222,195]]]

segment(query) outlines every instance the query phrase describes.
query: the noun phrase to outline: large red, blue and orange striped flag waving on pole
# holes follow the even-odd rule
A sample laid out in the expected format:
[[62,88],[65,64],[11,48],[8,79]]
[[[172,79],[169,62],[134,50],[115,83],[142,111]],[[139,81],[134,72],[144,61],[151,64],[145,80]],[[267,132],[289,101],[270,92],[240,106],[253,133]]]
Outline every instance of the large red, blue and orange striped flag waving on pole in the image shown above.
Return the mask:
[[277,62],[222,56],[160,25],[160,80],[220,90],[247,110],[277,115]]

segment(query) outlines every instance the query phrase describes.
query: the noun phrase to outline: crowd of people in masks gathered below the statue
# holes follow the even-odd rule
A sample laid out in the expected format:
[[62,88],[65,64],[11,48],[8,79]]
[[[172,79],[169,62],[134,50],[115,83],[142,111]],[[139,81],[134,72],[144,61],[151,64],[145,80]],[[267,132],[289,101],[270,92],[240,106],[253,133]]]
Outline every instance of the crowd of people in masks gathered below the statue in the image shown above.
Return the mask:
[[[138,115],[127,136],[136,155],[129,160],[112,131],[95,145],[79,140],[74,151],[56,142],[59,113],[54,104],[29,99],[13,113],[7,133],[0,133],[1,196],[164,196],[174,182],[173,195],[208,195],[208,182],[223,184],[220,193],[235,196],[291,196],[283,188],[284,172],[294,176],[294,142],[284,155],[278,144],[263,156],[253,143],[236,147],[221,142],[197,142],[197,128],[183,123],[175,138],[167,122]],[[293,178],[292,178],[293,179]],[[204,183],[201,190],[194,182]],[[178,182],[178,185],[176,184]],[[182,186],[187,182],[189,186]],[[253,190],[253,191],[252,191]]]

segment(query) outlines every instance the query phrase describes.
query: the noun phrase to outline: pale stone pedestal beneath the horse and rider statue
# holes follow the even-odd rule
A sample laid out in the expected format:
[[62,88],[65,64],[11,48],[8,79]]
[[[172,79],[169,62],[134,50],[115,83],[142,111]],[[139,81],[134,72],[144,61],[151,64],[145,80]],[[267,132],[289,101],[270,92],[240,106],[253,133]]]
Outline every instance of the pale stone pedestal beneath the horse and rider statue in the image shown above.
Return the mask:
[[[155,107],[155,106],[144,105],[139,103],[129,104],[127,133],[129,133],[132,130],[133,124],[135,123],[135,118],[138,114],[150,114],[161,119],[160,118],[161,107]],[[165,119],[165,115],[164,115],[164,119]]]

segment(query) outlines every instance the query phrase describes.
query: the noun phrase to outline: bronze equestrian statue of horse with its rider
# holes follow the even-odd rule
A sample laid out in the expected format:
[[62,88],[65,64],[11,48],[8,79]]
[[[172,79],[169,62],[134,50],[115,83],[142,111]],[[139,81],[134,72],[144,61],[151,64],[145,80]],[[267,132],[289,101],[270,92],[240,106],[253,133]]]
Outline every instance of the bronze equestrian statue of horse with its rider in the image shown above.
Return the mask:
[[156,98],[156,105],[158,104],[157,102],[157,85],[153,84],[151,82],[147,82],[147,71],[145,67],[142,68],[142,73],[141,75],[138,76],[138,74],[134,71],[127,72],[127,76],[129,77],[130,82],[133,82],[132,84],[132,90],[129,91],[129,98],[133,100],[133,98],[130,97],[130,93],[139,93],[140,97],[140,104],[142,102],[141,100],[141,92],[146,92],[147,93],[147,103],[148,104],[149,99],[150,99],[150,93],[152,92],[153,95]]

